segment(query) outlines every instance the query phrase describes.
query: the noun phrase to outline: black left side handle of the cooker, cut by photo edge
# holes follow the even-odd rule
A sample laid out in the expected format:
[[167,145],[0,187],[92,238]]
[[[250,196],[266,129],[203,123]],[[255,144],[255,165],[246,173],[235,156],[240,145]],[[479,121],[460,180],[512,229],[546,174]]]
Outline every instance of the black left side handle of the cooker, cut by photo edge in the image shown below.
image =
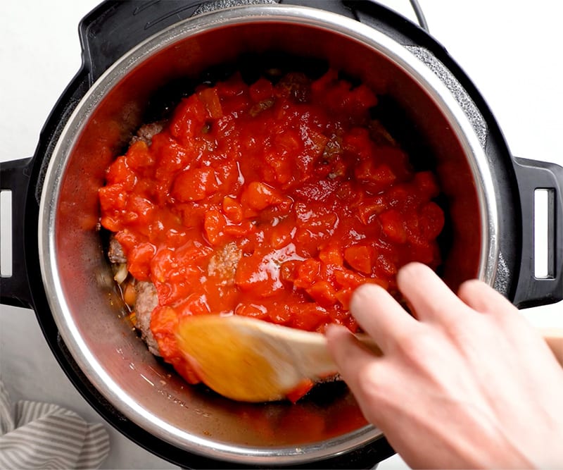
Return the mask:
[[[0,303],[30,308],[32,297],[25,264],[25,204],[30,184],[32,159],[0,162],[0,191],[11,192],[12,273],[0,276]],[[0,220],[6,223],[7,216]]]

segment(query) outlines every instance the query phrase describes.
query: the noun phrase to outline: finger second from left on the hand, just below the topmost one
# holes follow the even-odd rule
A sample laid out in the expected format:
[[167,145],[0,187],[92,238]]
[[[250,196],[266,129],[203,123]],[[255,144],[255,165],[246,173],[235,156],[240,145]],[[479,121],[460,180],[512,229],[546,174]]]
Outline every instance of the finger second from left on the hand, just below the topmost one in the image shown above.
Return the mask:
[[417,325],[396,299],[374,284],[361,285],[354,291],[350,312],[383,352],[409,335]]

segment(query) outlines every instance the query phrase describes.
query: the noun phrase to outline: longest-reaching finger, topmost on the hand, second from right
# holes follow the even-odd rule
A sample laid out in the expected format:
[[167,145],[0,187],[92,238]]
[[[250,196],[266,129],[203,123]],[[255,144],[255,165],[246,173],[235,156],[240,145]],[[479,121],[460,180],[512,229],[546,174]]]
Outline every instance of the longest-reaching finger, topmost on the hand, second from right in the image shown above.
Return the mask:
[[397,284],[420,321],[443,323],[468,310],[467,305],[424,264],[410,263],[400,268]]

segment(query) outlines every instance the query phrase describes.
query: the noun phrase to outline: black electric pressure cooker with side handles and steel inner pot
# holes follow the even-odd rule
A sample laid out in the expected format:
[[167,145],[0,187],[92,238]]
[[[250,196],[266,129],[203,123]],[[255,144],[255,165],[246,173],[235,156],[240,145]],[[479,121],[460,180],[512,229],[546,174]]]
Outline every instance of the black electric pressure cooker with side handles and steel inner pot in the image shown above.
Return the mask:
[[[346,0],[107,2],[82,20],[80,39],[82,68],[34,156],[1,166],[0,189],[11,190],[15,214],[13,275],[1,278],[1,301],[34,309],[87,401],[160,457],[196,468],[370,468],[393,453],[343,383],[297,404],[232,402],[184,383],[132,331],[99,233],[97,189],[170,84],[279,56],[290,65],[322,61],[365,82],[413,164],[438,176],[443,279],[455,289],[481,278],[519,307],[562,299],[563,168],[514,158],[453,58],[387,8]],[[533,271],[537,189],[550,200],[545,278]]]

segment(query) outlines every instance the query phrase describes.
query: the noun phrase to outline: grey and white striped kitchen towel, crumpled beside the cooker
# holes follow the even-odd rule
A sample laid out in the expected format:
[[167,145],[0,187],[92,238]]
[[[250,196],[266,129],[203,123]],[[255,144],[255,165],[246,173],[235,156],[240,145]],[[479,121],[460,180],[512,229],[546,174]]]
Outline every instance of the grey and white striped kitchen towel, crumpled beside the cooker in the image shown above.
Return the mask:
[[11,404],[0,381],[0,469],[96,469],[109,450],[101,423],[56,404]]

